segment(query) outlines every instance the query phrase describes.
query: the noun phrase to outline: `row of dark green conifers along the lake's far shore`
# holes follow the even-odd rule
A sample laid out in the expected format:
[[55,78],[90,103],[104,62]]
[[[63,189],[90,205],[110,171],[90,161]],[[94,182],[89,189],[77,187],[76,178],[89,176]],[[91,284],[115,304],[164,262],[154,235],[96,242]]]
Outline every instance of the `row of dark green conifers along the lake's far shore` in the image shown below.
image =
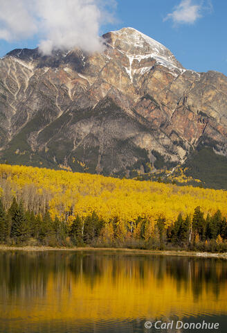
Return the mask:
[[227,222],[220,210],[205,217],[201,207],[196,207],[193,216],[179,214],[169,226],[159,216],[154,228],[146,216],[125,225],[117,216],[105,221],[95,211],[85,217],[77,214],[69,223],[57,216],[51,219],[48,207],[44,214],[35,214],[25,210],[22,200],[13,198],[7,210],[0,199],[0,243],[226,251]]

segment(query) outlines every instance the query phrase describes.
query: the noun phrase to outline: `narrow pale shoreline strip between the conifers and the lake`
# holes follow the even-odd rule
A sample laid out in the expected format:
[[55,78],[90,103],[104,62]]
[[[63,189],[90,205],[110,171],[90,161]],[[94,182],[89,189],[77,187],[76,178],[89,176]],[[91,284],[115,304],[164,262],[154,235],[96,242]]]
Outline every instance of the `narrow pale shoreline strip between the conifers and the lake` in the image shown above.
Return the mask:
[[51,248],[50,246],[1,246],[0,250],[21,250],[26,252],[69,251],[69,252],[109,252],[125,255],[172,255],[179,257],[204,257],[227,259],[227,253],[189,252],[185,250],[140,250],[131,248]]

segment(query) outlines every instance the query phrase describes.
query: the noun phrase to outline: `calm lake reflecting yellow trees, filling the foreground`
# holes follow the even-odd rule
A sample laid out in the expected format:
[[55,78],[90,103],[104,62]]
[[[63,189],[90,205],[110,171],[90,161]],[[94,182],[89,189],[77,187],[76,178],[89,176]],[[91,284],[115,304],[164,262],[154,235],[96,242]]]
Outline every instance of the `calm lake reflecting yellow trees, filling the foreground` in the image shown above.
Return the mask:
[[[203,320],[219,323],[219,330],[174,328],[176,321]],[[156,330],[156,321],[174,327]],[[227,261],[2,251],[0,332],[227,332]]]

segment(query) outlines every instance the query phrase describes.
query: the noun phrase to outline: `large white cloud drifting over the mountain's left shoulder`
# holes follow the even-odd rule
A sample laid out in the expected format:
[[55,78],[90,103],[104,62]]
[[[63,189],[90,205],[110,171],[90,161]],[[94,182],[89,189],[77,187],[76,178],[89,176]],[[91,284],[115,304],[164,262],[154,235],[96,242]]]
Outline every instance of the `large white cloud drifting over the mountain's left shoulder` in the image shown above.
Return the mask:
[[0,39],[12,42],[36,35],[46,55],[75,47],[100,51],[99,29],[113,22],[114,6],[115,0],[0,0]]

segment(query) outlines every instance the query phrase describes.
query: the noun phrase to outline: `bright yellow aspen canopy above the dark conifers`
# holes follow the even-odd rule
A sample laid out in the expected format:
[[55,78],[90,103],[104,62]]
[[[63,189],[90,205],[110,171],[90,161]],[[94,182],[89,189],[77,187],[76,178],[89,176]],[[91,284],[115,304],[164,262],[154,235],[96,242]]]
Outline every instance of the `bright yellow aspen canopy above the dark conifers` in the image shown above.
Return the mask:
[[17,197],[24,198],[26,187],[33,185],[37,195],[48,198],[52,217],[70,220],[72,215],[87,216],[95,210],[105,221],[117,217],[129,225],[142,216],[151,224],[147,225],[147,234],[158,216],[165,217],[167,226],[179,213],[193,214],[197,206],[205,214],[219,209],[227,216],[227,193],[222,190],[5,164],[0,164],[0,178],[9,182]]

